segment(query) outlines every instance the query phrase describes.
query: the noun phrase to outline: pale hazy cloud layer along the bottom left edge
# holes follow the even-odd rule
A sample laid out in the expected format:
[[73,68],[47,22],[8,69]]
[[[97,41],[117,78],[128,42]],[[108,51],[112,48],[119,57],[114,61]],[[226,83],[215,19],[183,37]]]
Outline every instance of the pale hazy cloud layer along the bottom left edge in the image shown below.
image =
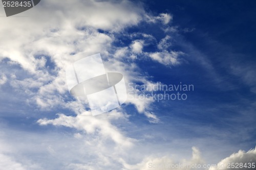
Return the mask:
[[[4,128],[1,126],[1,129]],[[1,131],[0,167],[8,170],[16,166],[19,170],[55,170],[74,169],[78,165],[77,169],[120,169],[116,165],[116,158],[127,152],[127,148],[123,145],[117,147],[114,142],[100,135],[98,130],[95,134],[79,131],[78,138],[70,131],[51,131],[50,128],[44,133],[9,129]]]

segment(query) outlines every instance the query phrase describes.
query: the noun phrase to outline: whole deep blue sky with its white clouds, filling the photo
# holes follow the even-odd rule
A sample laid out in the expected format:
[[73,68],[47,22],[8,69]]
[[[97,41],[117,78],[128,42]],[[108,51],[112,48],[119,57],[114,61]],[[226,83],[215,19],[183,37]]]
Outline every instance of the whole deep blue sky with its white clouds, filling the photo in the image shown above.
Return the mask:
[[[253,1],[43,1],[1,17],[0,167],[255,162],[255,8]],[[150,90],[128,91],[121,107],[91,116],[88,101],[69,94],[65,68],[97,53],[126,88],[194,90],[181,91],[186,100],[160,101],[134,95]]]

